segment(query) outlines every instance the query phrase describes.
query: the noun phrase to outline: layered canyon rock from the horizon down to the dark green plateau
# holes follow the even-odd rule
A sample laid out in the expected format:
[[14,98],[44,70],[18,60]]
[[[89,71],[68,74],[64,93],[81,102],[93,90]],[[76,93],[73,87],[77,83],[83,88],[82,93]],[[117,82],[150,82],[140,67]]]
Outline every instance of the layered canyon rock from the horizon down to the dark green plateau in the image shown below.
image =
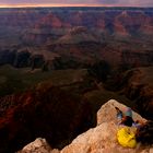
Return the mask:
[[[0,63],[21,68],[35,60],[37,63],[33,66],[45,61],[44,66],[52,60],[51,52],[80,58],[85,64],[98,59],[113,66],[150,66],[153,62],[152,21],[151,9],[3,9],[0,48],[12,50],[15,46],[17,51],[3,54],[0,49]],[[32,47],[31,51],[19,52],[19,48],[26,47]],[[33,47],[37,47],[37,55]],[[28,51],[33,58],[28,58]]]

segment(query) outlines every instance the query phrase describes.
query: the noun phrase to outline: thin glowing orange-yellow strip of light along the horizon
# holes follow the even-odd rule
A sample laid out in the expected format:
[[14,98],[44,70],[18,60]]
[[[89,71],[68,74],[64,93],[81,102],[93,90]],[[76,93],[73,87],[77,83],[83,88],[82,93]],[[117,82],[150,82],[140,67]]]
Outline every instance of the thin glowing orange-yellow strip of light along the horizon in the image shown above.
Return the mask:
[[69,8],[69,7],[74,7],[74,8],[78,8],[78,7],[91,7],[91,8],[94,8],[94,7],[104,7],[104,8],[153,8],[153,7],[139,7],[139,5],[113,5],[113,4],[63,4],[63,3],[46,3],[46,4],[43,4],[43,3],[39,3],[39,4],[28,4],[28,3],[24,3],[24,4],[0,4],[0,8]]

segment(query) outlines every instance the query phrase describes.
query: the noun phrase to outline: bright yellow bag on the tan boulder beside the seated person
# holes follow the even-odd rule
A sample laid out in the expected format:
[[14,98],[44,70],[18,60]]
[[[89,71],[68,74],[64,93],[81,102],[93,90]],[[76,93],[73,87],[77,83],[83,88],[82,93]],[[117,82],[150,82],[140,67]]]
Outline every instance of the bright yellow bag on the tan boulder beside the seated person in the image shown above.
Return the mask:
[[134,132],[132,132],[128,127],[118,130],[117,140],[119,144],[126,148],[136,148],[137,145]]

